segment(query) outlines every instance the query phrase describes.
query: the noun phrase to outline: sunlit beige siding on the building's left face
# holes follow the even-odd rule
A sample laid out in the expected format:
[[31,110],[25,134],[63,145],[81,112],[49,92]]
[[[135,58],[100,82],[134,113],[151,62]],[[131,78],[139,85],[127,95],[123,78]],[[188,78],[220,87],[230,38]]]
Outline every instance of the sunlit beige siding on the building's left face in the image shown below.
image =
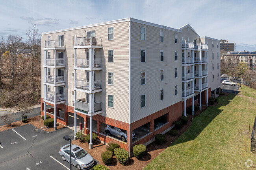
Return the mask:
[[[108,27],[114,27],[114,40],[108,40]],[[65,77],[66,85],[64,91],[67,93],[66,105],[73,106],[72,91],[74,90],[74,83],[72,83],[72,73],[74,73],[74,65],[72,65],[72,55],[74,48],[72,46],[72,36],[85,37],[86,31],[95,31],[96,37],[102,38],[102,49],[95,49],[95,58],[101,59],[102,70],[95,71],[96,79],[101,80],[102,92],[97,95],[100,96],[102,102],[102,115],[116,119],[123,122],[129,122],[129,22],[119,22],[115,24],[108,24],[95,27],[87,27],[83,29],[74,29],[70,31],[63,31],[61,33],[51,33],[42,35],[42,49],[41,49],[41,96],[44,97],[44,50],[45,40],[48,35],[51,35],[51,40],[58,40],[58,35],[64,35],[66,50],[64,53],[67,77]],[[114,63],[108,63],[108,50],[114,49]],[[51,57],[53,57],[51,51]],[[86,49],[88,51],[88,49]],[[77,49],[77,58],[86,58],[84,49]],[[114,72],[114,86],[108,86],[107,72]],[[81,72],[81,73],[80,73]],[[78,70],[77,78],[85,78],[85,71]],[[98,79],[98,76],[100,77]],[[85,97],[81,92],[77,92],[78,97]],[[114,108],[108,108],[108,94],[114,95]],[[77,97],[77,99],[78,99]]]

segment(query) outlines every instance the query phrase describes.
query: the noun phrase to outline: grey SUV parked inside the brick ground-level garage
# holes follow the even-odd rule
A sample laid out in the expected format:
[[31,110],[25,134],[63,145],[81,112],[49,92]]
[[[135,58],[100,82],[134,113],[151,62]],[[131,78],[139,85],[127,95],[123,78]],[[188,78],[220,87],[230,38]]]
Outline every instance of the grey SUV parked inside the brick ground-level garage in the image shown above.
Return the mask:
[[[115,126],[110,126],[107,124],[107,126],[105,126],[105,132],[109,136],[114,135],[116,137],[119,137],[123,142],[127,140],[126,130],[117,128]],[[132,139],[134,139],[134,137],[135,137],[135,132],[132,131]]]

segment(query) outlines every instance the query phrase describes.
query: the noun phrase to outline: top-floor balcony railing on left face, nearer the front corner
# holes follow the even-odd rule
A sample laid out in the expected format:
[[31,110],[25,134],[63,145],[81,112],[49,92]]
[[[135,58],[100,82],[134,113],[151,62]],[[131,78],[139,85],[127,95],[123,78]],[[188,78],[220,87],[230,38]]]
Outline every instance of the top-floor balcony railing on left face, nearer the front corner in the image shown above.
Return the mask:
[[77,37],[75,46],[102,46],[101,37]]

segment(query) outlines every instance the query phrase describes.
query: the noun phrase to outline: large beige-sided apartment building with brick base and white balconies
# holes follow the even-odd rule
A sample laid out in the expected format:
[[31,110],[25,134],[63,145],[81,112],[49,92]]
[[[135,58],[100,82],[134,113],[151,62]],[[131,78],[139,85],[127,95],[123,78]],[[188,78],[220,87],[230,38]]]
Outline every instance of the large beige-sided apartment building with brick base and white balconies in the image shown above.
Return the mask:
[[[189,24],[125,18],[45,32],[41,40],[41,114],[55,119],[55,129],[56,122],[69,125],[69,115],[76,127],[80,117],[86,134],[129,153],[173,128],[188,106],[208,105],[220,86],[220,40],[200,37]],[[107,135],[107,124],[127,139]]]

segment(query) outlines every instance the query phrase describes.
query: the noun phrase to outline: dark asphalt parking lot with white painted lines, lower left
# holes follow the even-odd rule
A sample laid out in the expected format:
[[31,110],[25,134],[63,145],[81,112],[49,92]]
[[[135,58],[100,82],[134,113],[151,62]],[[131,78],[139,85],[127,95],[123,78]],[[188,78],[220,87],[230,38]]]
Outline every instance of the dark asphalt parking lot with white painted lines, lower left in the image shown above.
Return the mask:
[[[69,163],[63,161],[59,149],[74,138],[69,128],[45,132],[31,124],[0,132],[1,170],[67,170]],[[76,169],[72,166],[72,169]]]

